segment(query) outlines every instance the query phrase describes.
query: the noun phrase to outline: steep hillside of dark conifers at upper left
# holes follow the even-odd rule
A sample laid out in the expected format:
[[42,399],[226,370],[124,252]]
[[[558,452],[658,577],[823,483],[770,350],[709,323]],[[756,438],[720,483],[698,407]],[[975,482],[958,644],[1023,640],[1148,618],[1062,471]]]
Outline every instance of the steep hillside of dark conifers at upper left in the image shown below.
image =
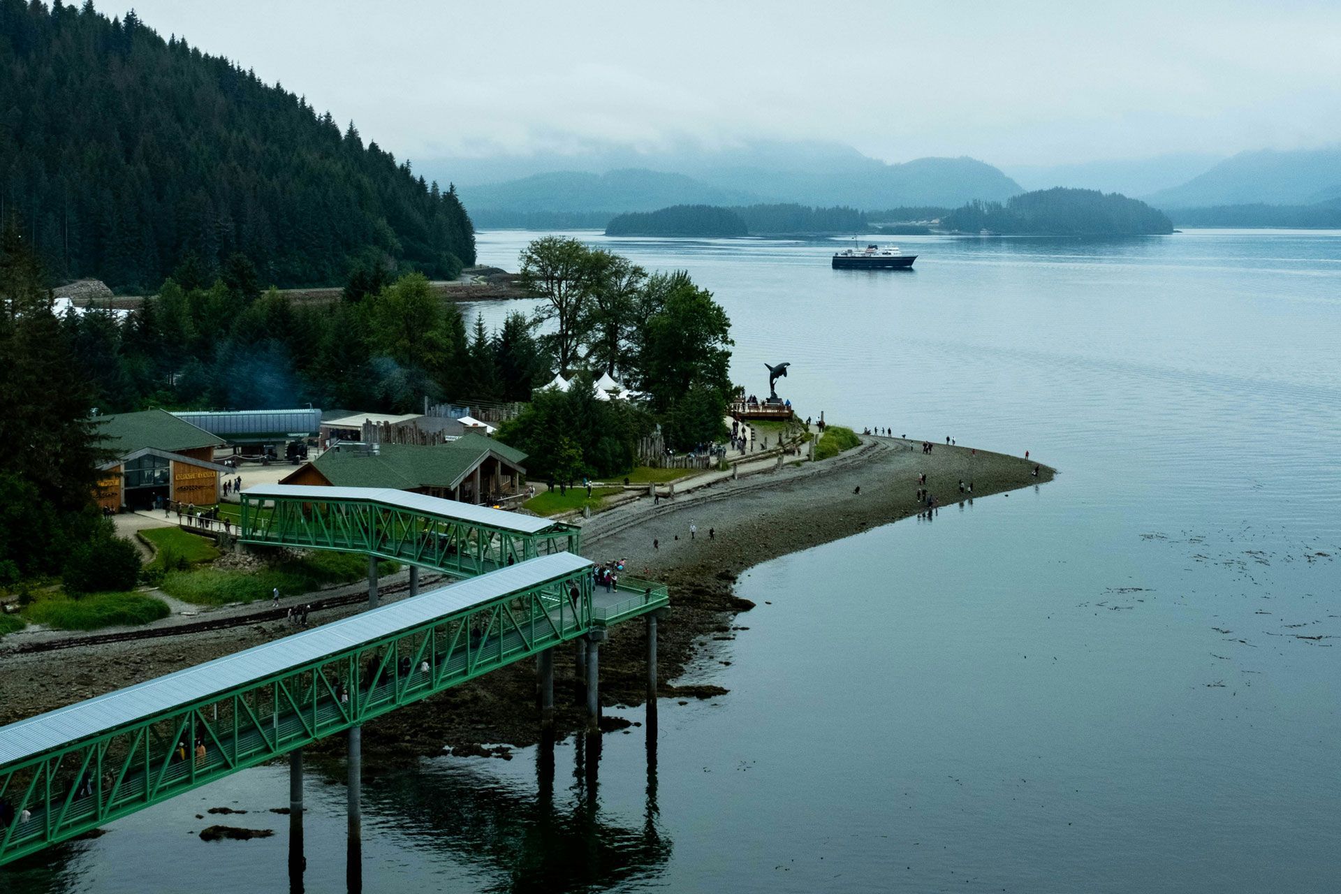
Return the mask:
[[326,285],[370,259],[475,261],[452,189],[133,12],[0,0],[0,217],[58,279],[148,291],[245,257],[263,285]]

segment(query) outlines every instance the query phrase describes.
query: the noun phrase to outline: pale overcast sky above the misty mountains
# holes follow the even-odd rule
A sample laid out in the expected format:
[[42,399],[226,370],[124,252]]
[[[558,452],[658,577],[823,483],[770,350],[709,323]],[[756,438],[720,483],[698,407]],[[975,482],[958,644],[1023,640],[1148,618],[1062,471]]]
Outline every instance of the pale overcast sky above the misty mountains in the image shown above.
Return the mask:
[[416,159],[826,139],[1010,165],[1341,141],[1341,3],[134,8]]

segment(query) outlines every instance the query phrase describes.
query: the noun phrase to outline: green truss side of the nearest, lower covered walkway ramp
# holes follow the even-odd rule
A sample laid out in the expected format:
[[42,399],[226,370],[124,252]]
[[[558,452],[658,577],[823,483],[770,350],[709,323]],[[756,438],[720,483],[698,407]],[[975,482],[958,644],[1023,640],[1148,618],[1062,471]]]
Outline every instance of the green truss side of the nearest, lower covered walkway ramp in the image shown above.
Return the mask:
[[574,639],[593,622],[581,570],[0,765],[0,865]]

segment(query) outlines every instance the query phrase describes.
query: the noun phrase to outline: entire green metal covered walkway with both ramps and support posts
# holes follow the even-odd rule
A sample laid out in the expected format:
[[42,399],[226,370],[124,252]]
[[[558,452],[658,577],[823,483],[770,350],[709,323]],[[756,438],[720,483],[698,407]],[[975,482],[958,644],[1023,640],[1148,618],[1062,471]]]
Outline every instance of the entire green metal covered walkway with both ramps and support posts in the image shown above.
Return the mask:
[[[589,654],[583,661],[594,724],[595,646],[605,627],[638,615],[648,615],[654,681],[656,614],[649,613],[666,604],[664,586],[637,582],[621,591],[595,592],[590,560],[558,550],[536,555],[550,548],[548,537],[575,544],[575,532],[561,533],[551,529],[552,523],[524,516],[515,517],[546,527],[508,531],[492,516],[451,517],[445,513],[475,513],[426,507],[418,495],[405,495],[406,505],[389,505],[396,493],[384,492],[380,500],[337,496],[327,503],[345,499],[351,505],[331,508],[325,528],[315,521],[322,515],[315,508],[306,523],[292,517],[290,527],[276,523],[290,512],[283,508],[290,496],[314,501],[307,495],[270,495],[271,520],[257,525],[253,512],[252,527],[243,527],[244,540],[296,547],[296,539],[334,529],[343,531],[339,536],[351,544],[366,536],[366,551],[373,555],[405,558],[424,540],[405,533],[409,528],[471,547],[449,554],[433,543],[422,546],[417,562],[425,567],[463,574],[468,567],[463,552],[476,568],[506,562],[514,547],[520,556],[515,564],[422,595],[0,728],[0,866],[345,730],[351,741],[354,835],[354,743],[365,721],[531,655],[540,659],[550,706],[551,650],[578,641],[581,654]],[[252,509],[259,509],[252,492],[243,493],[244,505],[248,495]],[[385,537],[380,533],[380,525],[389,521],[384,508],[402,525],[397,533],[388,528]],[[362,528],[347,517],[331,521],[359,512]],[[488,548],[479,547],[476,537],[484,529],[491,532],[481,535],[492,543]],[[329,535],[327,544],[333,543],[337,539]],[[365,551],[357,546],[312,548]],[[300,767],[299,761],[299,783]]]

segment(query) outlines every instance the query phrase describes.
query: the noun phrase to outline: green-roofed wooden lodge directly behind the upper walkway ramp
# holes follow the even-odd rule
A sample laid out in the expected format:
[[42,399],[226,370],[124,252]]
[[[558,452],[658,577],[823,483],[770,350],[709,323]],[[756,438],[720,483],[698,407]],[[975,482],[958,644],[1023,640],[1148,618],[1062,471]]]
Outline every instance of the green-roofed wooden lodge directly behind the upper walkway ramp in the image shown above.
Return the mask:
[[483,434],[447,444],[339,444],[280,484],[394,488],[489,504],[518,493],[526,453]]

